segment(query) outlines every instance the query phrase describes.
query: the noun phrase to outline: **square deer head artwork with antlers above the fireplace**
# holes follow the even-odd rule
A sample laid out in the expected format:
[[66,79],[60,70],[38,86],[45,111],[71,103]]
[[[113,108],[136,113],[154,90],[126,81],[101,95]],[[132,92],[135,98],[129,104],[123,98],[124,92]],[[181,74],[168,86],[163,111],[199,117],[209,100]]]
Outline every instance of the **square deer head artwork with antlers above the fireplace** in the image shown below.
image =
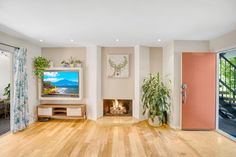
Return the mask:
[[129,77],[129,55],[108,55],[107,76],[110,78]]

